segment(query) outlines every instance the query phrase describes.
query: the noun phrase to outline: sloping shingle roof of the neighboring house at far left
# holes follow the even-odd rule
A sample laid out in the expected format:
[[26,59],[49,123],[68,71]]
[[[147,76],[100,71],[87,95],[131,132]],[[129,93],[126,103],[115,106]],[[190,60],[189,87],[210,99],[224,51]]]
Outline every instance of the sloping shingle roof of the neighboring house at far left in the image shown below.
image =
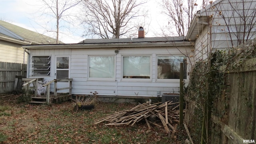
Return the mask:
[[[56,39],[51,38],[49,36],[45,36],[43,34],[39,34],[37,32],[33,32],[32,30],[28,30],[26,28],[22,28],[20,26],[16,26],[14,24],[10,24],[8,22],[0,20],[0,25],[4,28],[12,31],[13,33],[17,34],[18,36],[24,38],[27,41],[32,42],[32,44],[55,44]],[[1,36],[6,36],[10,38],[10,36],[6,34],[0,34]],[[12,37],[14,38],[14,37]],[[17,39],[17,38],[16,38]],[[59,41],[60,44],[64,44],[63,42]]]

